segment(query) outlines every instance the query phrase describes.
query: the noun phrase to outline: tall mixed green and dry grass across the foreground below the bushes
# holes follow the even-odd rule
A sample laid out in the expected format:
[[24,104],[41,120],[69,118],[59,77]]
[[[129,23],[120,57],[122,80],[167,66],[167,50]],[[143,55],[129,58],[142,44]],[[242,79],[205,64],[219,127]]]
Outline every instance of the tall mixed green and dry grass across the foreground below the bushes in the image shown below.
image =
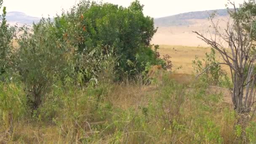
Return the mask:
[[[237,138],[236,119],[222,93],[202,82],[158,86],[100,83],[97,88],[56,84],[40,115],[16,120],[17,143],[237,143],[255,142],[255,122]],[[4,125],[1,123],[1,129]]]

